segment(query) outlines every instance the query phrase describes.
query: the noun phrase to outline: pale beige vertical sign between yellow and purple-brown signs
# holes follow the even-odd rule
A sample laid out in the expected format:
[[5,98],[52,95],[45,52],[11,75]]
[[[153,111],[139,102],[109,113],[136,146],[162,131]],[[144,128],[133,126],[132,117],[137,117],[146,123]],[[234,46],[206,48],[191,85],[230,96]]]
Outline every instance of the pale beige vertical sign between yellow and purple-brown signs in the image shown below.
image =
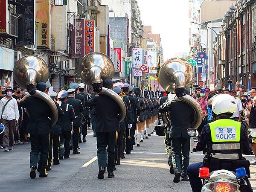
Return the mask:
[[55,39],[54,50],[67,49],[67,5],[52,6],[52,37]]

